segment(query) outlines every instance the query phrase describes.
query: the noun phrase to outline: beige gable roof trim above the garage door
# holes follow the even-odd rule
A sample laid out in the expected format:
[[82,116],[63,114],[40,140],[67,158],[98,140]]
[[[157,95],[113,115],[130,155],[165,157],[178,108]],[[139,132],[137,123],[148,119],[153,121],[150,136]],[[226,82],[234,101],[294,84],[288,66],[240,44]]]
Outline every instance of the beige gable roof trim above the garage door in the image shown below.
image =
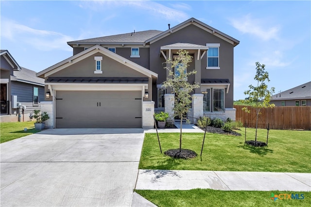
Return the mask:
[[86,59],[87,57],[93,55],[93,54],[96,54],[96,53],[102,53],[103,55],[121,63],[121,64],[124,64],[136,71],[138,71],[139,73],[141,74],[144,74],[145,76],[147,77],[157,77],[157,74],[132,62],[132,61],[129,61],[128,59],[126,58],[123,58],[122,56],[114,53],[114,52],[111,52],[109,51],[108,49],[106,48],[103,48],[99,45],[95,45],[91,48],[88,48],[86,50],[84,50],[83,52],[80,52],[74,56],[71,56],[70,58],[62,61],[62,62],[59,62],[58,64],[54,64],[52,65],[51,67],[41,71],[41,72],[38,72],[36,74],[37,77],[40,77],[40,78],[45,78],[45,77],[48,77],[48,76],[51,76],[52,74],[64,69],[64,68],[67,68],[69,65],[73,64],[73,63],[77,63],[79,61],[82,61],[84,59]]

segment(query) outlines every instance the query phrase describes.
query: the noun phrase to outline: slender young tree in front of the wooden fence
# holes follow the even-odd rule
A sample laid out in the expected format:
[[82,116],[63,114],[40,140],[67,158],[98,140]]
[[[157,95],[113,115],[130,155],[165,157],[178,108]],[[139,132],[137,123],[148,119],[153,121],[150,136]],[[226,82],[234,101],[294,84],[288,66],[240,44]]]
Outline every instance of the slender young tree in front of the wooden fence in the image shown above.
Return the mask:
[[[272,87],[268,90],[268,85],[265,81],[270,82],[269,74],[265,71],[265,65],[256,62],[256,75],[254,80],[257,80],[257,86],[249,85],[249,90],[245,91],[244,94],[248,96],[247,99],[243,100],[245,104],[255,103],[254,107],[256,109],[256,132],[255,132],[255,145],[257,145],[257,128],[260,110],[262,108],[273,108],[274,104],[270,104],[270,99],[275,91]],[[242,109],[245,112],[250,112],[247,107]]]

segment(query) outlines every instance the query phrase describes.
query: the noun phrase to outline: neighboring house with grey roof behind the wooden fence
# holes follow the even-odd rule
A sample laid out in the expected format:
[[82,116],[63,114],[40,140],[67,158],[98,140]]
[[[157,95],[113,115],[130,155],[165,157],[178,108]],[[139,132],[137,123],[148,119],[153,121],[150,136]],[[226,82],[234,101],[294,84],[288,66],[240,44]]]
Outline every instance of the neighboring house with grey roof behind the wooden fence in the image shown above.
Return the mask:
[[311,81],[271,97],[276,106],[311,106]]

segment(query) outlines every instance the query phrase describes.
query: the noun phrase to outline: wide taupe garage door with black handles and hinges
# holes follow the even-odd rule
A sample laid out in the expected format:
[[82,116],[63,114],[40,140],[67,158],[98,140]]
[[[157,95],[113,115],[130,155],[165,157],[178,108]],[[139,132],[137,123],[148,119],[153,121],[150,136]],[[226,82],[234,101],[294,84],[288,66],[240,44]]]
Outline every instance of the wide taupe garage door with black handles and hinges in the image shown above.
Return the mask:
[[141,127],[141,91],[57,91],[56,128]]

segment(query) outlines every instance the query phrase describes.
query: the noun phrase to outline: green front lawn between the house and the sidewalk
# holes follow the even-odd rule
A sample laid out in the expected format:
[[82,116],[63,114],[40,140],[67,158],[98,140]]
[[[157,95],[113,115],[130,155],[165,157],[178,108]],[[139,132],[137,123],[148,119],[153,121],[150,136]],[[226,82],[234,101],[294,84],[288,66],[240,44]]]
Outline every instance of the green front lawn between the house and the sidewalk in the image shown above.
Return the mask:
[[[311,173],[311,131],[270,130],[268,146],[244,145],[242,136],[183,133],[182,148],[195,151],[194,159],[172,159],[160,153],[156,133],[146,133],[139,169],[258,171]],[[247,128],[247,140],[254,140],[255,129]],[[162,151],[179,148],[179,133],[160,133]],[[266,142],[267,130],[258,130],[258,141]]]

